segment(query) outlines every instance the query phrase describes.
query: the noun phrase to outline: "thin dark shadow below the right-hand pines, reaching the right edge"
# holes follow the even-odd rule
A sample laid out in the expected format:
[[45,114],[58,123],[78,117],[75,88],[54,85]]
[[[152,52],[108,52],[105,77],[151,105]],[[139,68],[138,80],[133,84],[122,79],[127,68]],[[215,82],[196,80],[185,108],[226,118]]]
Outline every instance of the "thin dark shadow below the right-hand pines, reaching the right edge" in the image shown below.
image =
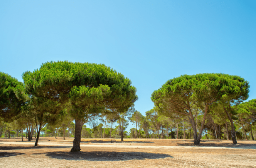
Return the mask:
[[226,147],[226,148],[245,148],[245,149],[256,149],[256,143],[200,143],[199,145],[195,145],[194,143],[177,143],[178,146],[184,147]]

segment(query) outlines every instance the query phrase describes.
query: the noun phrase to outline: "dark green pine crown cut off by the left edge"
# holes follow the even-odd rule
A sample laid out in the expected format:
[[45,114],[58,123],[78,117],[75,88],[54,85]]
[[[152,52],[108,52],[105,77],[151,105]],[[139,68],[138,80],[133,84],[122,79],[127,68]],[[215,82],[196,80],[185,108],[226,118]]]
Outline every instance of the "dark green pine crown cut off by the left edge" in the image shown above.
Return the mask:
[[19,100],[15,94],[15,89],[22,86],[14,77],[0,72],[0,118],[5,122],[12,122],[17,119],[24,102]]

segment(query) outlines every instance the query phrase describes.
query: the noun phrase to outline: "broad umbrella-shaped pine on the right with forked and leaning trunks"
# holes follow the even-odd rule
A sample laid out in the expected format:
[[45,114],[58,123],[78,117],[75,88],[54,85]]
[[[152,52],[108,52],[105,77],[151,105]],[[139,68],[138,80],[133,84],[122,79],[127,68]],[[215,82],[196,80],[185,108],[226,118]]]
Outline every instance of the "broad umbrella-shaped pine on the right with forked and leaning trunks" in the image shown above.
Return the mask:
[[[160,89],[152,94],[152,101],[165,111],[166,115],[177,113],[190,122],[194,132],[194,144],[200,143],[207,112],[216,102],[222,104],[229,116],[232,127],[231,103],[248,98],[249,84],[239,76],[228,74],[196,74],[182,75],[170,79]],[[197,132],[195,116],[203,116],[201,128]],[[235,140],[235,141],[234,141]]]

